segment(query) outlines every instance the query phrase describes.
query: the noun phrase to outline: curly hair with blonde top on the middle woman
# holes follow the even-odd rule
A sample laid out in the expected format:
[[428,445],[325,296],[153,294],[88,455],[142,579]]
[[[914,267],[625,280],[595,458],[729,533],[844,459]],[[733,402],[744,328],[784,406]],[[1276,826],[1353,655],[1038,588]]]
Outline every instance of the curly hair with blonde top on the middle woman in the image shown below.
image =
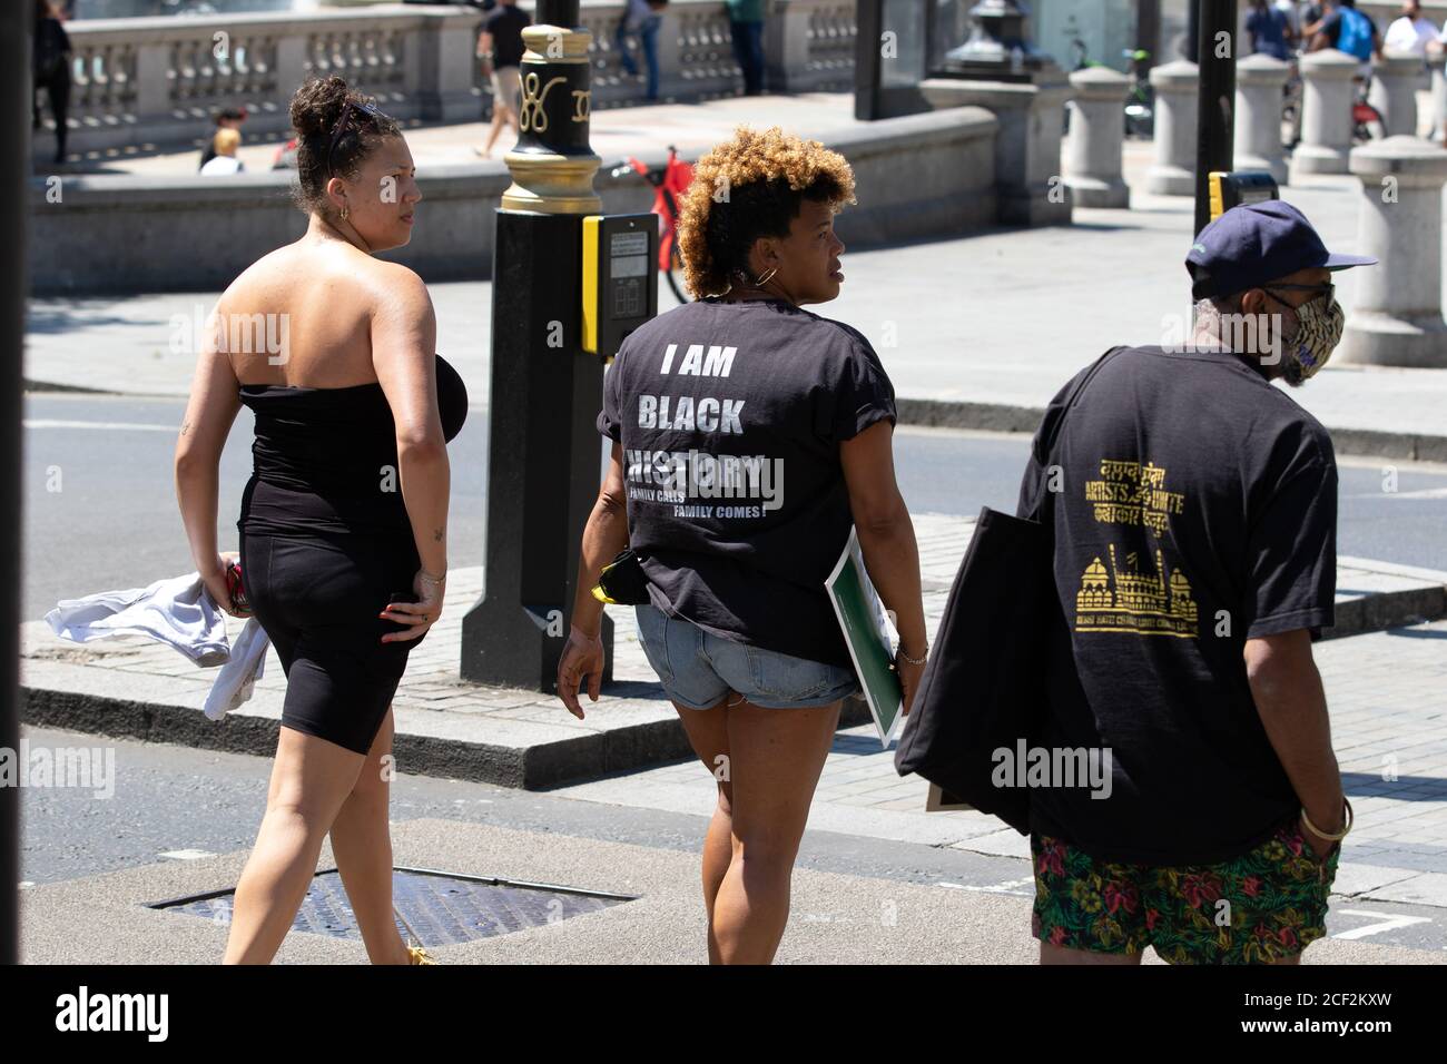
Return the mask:
[[789,236],[805,198],[854,203],[854,169],[818,140],[738,126],[699,159],[679,213],[679,256],[695,298],[722,295],[761,236]]

